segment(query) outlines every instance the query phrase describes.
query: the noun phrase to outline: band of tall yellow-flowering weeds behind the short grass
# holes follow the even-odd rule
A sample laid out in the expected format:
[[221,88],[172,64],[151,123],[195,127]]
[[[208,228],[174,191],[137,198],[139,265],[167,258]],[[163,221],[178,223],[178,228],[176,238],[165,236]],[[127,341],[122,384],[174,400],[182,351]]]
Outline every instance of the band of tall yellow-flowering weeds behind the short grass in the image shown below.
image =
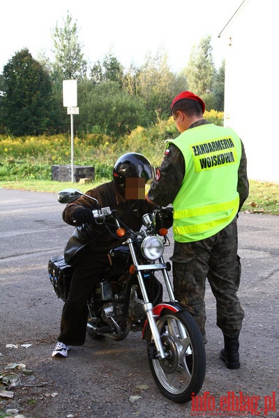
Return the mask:
[[[216,125],[223,125],[223,112],[206,111],[204,117]],[[179,135],[174,119],[160,120],[149,127],[138,126],[117,139],[101,133],[82,134],[74,139],[74,163],[95,167],[96,180],[112,178],[112,167],[120,155],[141,153],[155,166],[160,165],[165,152],[165,141]],[[51,180],[52,165],[70,164],[68,135],[40,135],[38,137],[0,136],[0,179]]]

